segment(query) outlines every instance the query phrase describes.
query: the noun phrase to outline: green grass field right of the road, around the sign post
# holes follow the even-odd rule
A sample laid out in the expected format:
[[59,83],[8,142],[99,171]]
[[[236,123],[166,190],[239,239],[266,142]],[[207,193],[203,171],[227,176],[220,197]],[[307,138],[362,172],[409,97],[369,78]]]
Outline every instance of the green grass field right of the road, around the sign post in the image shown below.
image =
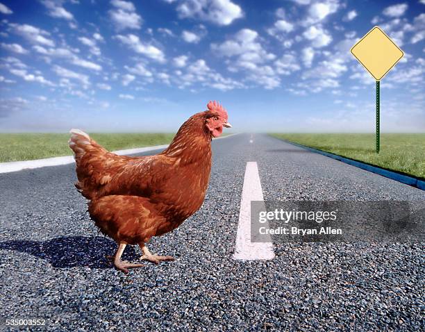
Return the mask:
[[425,179],[425,133],[381,134],[379,154],[375,153],[374,134],[272,133],[271,135]]

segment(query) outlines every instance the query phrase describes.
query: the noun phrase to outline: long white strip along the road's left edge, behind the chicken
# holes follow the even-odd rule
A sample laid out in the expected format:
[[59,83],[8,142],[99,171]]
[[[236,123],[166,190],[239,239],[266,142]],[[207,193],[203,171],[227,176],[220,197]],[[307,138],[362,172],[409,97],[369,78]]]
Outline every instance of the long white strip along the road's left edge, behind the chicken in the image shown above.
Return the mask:
[[[230,134],[226,136],[222,136],[220,138],[229,138],[233,135],[238,134]],[[215,138],[214,140],[219,140],[220,138]],[[156,145],[154,147],[140,147],[137,149],[126,149],[126,150],[118,150],[113,151],[113,153],[117,153],[120,156],[141,153],[147,151],[153,151],[158,149],[165,149],[168,147],[168,144],[165,145]],[[9,173],[9,172],[17,172],[22,169],[33,169],[39,167],[47,167],[47,166],[58,166],[58,165],[67,165],[74,163],[73,156],[63,156],[63,157],[53,157],[53,158],[44,158],[44,159],[36,159],[36,160],[24,160],[24,161],[9,161],[7,163],[0,163],[0,173]]]

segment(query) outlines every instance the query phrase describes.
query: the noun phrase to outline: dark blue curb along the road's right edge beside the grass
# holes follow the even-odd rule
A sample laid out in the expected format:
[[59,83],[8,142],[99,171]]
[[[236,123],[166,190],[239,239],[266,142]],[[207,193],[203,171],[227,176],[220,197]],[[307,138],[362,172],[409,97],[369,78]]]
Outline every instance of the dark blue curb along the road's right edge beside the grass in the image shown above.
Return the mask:
[[[277,138],[278,140],[282,140],[281,138]],[[378,166],[372,166],[369,164],[365,164],[362,163],[360,161],[357,160],[353,160],[353,159],[349,159],[349,158],[345,158],[342,156],[338,156],[338,154],[333,154],[330,152],[326,152],[326,151],[322,151],[322,150],[318,150],[318,149],[314,149],[313,147],[307,147],[306,145],[302,145],[302,144],[298,144],[298,143],[294,143],[294,142],[290,142],[288,140],[283,140],[284,142],[287,142],[289,144],[292,144],[296,147],[301,147],[303,149],[315,152],[315,153],[319,153],[322,154],[323,156],[335,159],[335,160],[339,160],[342,163],[346,163],[361,169],[365,169],[369,172],[381,175],[381,176],[385,176],[385,178],[388,179],[392,179],[394,181],[398,181],[401,183],[405,183],[406,185],[412,185],[412,187],[421,189],[421,190],[425,190],[425,181],[419,180],[419,179],[415,179],[412,176],[408,176],[408,175],[403,175],[403,174],[399,174],[397,172],[392,172],[389,171],[388,169],[383,169],[381,167]]]

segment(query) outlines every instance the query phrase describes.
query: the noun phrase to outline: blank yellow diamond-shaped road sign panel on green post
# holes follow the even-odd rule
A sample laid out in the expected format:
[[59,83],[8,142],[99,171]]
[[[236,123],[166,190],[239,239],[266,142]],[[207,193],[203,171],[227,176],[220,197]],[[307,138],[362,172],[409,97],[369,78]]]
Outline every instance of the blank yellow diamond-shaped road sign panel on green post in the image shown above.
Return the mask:
[[351,53],[376,81],[381,81],[404,55],[378,26],[366,33],[365,37],[351,48]]

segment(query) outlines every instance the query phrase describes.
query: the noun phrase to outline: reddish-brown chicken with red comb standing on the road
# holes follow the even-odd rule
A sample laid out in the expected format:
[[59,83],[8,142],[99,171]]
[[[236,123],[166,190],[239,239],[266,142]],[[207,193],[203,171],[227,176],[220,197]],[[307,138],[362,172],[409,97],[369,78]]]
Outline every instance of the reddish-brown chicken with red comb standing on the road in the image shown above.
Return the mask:
[[231,127],[219,103],[210,101],[207,108],[190,117],[169,147],[155,156],[117,156],[72,129],[75,186],[89,200],[90,217],[101,233],[117,242],[110,259],[122,272],[143,266],[121,260],[127,244],[140,246],[141,260],[174,260],[151,254],[147,242],[176,229],[201,208],[210,179],[211,140],[223,127]]

